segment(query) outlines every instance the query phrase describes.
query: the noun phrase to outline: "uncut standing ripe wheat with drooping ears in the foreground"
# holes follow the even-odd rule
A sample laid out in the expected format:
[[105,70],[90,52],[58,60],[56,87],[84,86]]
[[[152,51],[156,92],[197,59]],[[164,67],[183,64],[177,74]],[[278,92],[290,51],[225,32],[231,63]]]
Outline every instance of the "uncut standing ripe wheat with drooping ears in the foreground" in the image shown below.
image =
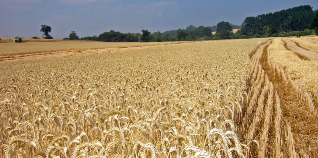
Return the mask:
[[[1,63],[0,157],[245,157],[268,142],[242,142],[237,122],[251,102],[248,55],[266,40]],[[270,118],[277,96],[262,81]]]

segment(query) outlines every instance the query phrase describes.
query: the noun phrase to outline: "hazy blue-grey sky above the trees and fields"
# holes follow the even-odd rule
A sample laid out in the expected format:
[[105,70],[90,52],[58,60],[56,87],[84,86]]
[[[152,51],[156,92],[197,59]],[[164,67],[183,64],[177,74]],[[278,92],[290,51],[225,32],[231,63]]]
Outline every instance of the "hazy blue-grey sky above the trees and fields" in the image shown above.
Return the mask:
[[0,0],[0,38],[42,37],[41,25],[54,39],[98,36],[110,30],[151,33],[213,26],[241,25],[246,17],[310,5],[317,0]]

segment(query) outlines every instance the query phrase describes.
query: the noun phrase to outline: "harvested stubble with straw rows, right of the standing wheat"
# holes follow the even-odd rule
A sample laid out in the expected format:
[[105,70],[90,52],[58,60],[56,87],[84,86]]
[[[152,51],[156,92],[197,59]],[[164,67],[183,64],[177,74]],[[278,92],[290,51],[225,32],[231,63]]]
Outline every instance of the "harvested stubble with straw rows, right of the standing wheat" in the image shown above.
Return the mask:
[[248,144],[246,157],[318,156],[315,39],[276,38],[251,53],[250,101],[239,128],[245,142],[259,144]]

